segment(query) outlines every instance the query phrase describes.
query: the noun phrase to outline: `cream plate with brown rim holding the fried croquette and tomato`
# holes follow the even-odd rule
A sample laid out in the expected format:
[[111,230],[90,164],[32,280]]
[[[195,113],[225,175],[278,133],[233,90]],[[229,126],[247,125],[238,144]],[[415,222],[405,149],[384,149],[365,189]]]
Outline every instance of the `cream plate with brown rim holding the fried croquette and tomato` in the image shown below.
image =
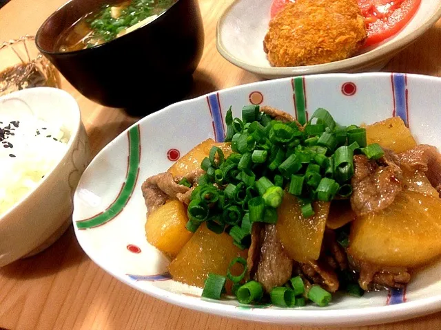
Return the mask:
[[272,0],[236,0],[221,15],[216,29],[218,52],[234,65],[263,78],[329,72],[378,71],[441,17],[441,0],[421,0],[411,21],[395,36],[346,60],[302,67],[271,67],[263,51]]

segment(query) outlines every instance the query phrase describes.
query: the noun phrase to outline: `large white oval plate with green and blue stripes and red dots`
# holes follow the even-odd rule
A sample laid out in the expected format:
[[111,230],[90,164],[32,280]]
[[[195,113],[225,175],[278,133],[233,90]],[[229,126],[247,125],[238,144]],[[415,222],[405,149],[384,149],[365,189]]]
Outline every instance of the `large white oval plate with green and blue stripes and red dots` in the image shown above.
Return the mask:
[[400,116],[419,143],[441,146],[441,79],[405,74],[328,74],[285,78],[218,91],[148,115],[108,144],[85,170],[74,195],[81,247],[123,283],[169,303],[221,316],[291,325],[369,325],[441,310],[441,262],[416,274],[404,290],[362,298],[335,296],[325,308],[279,309],[203,300],[201,289],[172,281],[168,261],[145,239],[143,180],[169,168],[208,137],[223,141],[231,105],[267,104],[305,120],[319,107],[340,124]]

